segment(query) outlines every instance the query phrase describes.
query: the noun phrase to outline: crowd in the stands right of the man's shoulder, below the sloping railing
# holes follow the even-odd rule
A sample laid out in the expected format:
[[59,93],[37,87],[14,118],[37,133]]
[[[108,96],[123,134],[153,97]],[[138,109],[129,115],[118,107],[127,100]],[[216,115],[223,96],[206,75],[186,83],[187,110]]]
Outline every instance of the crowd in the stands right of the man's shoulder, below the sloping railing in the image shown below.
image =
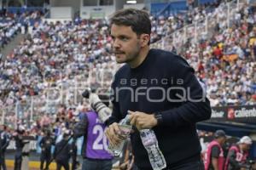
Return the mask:
[[187,42],[182,52],[206,83],[212,106],[255,104],[255,9],[244,6],[229,29],[218,23],[212,37],[198,46]]

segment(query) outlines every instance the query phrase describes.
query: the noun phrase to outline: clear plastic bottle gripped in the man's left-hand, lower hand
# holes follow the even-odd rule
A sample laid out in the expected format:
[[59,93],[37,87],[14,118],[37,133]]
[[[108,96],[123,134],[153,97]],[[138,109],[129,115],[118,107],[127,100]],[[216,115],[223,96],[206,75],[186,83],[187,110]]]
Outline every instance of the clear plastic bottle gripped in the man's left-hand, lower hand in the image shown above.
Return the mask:
[[124,140],[120,142],[118,145],[108,145],[108,151],[113,156],[119,156],[123,152],[123,147],[125,144],[125,139],[127,139],[131,133],[131,124],[130,124],[130,116],[126,115],[124,119],[119,122],[120,135],[124,137]]

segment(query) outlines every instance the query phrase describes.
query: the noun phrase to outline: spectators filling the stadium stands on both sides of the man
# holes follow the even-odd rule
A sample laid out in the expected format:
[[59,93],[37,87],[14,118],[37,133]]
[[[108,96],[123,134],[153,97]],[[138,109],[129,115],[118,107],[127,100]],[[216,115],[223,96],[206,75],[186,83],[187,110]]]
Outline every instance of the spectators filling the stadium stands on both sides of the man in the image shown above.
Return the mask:
[[[219,5],[219,8],[222,5]],[[152,17],[151,41],[154,42],[156,37],[168,37],[184,23],[195,22],[206,14],[216,14],[220,11],[219,8],[196,8],[188,14],[170,16],[167,19],[160,17],[156,20]],[[194,14],[198,17],[192,20],[191,16]],[[23,14],[26,20],[38,20],[41,16],[38,12]],[[255,105],[255,21],[255,7],[242,6],[240,10],[236,10],[236,17],[229,29],[219,22],[212,37],[199,39],[198,45],[188,39],[180,52],[195,68],[200,81],[205,83],[212,106]],[[87,108],[83,99],[74,101],[76,93],[79,95],[84,87],[90,86],[103,86],[107,91],[117,66],[111,53],[112,38],[109,36],[107,20],[77,18],[74,22],[56,23],[41,20],[31,22],[31,26],[32,33],[0,64],[0,103],[2,106],[12,106],[16,101],[21,104],[28,103],[26,108],[20,108],[27,118],[30,114],[27,101],[34,96],[34,102],[38,103],[35,117],[44,118],[40,119],[40,123],[36,119],[37,123],[31,123],[42,126],[54,122],[52,120],[55,118],[53,116],[56,116],[55,113],[60,114],[60,100],[45,106],[49,94],[51,98],[56,99],[61,89],[61,94],[66,99],[66,110],[64,109],[62,114],[71,113],[78,107]],[[105,74],[107,71],[109,74]],[[76,90],[80,88],[79,92],[68,89],[75,88],[74,84],[77,84]],[[45,93],[45,89],[49,88],[57,90]],[[63,99],[61,101],[63,103]],[[6,120],[15,122],[15,114],[7,114]]]

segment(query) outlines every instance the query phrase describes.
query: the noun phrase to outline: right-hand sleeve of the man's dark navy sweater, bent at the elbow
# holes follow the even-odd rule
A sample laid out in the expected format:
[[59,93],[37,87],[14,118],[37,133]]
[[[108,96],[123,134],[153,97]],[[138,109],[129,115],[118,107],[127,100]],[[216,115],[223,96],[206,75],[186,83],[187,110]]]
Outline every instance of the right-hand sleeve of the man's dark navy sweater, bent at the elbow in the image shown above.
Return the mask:
[[181,105],[168,111],[161,111],[163,125],[179,127],[209,119],[212,114],[210,102],[195,77],[194,69],[179,56],[173,59],[172,65],[170,75],[177,80],[178,89],[175,96],[180,99],[178,103]]

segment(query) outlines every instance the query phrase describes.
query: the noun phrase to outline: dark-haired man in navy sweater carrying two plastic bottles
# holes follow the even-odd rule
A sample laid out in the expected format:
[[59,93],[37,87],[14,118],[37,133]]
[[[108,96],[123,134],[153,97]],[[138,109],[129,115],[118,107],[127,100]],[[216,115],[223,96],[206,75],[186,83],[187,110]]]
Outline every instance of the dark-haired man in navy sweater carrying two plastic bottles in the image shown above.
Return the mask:
[[109,143],[122,141],[118,122],[131,114],[131,144],[137,169],[152,169],[139,130],[153,128],[168,169],[203,169],[195,123],[211,117],[211,107],[195,71],[177,54],[150,49],[148,14],[122,9],[110,19],[115,74]]

